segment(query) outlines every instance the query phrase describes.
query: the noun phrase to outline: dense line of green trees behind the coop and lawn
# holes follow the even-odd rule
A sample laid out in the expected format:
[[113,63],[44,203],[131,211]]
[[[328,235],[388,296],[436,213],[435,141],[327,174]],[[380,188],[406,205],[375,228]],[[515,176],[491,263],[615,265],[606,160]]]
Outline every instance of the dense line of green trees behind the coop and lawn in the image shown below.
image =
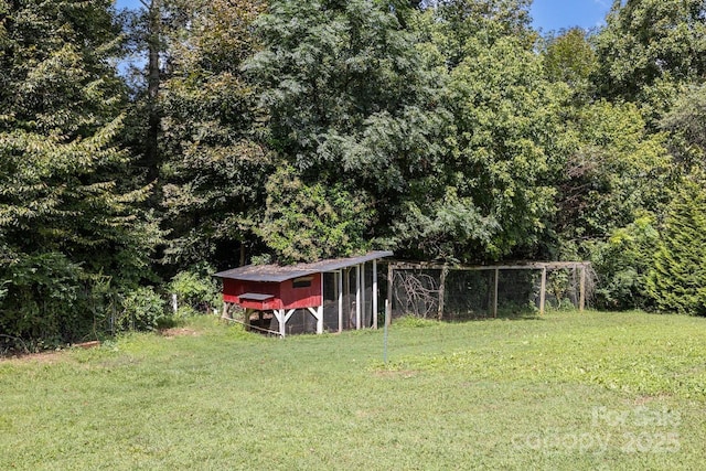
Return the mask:
[[0,342],[370,247],[589,259],[601,308],[706,314],[706,2],[545,36],[528,6],[0,0]]

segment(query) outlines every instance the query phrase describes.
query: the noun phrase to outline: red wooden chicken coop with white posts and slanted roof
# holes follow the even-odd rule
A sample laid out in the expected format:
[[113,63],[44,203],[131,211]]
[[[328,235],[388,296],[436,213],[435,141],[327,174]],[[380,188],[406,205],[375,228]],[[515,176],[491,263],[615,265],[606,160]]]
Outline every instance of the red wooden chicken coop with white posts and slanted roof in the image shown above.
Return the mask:
[[317,333],[377,328],[377,260],[392,255],[378,250],[313,264],[246,265],[217,272],[214,276],[223,280],[223,314],[229,317],[232,306],[242,307],[246,328],[254,313],[260,328],[270,315],[270,329],[264,330],[281,336],[297,312],[302,319],[296,330],[300,332],[306,331],[307,318],[315,320]]

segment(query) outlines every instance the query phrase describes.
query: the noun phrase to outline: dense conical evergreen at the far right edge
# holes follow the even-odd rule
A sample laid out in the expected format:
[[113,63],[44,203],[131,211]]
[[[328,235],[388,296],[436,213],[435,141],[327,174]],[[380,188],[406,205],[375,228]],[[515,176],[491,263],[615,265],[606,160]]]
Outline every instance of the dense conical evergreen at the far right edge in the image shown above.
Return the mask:
[[660,311],[706,315],[706,191],[703,175],[683,182],[660,231],[648,292]]

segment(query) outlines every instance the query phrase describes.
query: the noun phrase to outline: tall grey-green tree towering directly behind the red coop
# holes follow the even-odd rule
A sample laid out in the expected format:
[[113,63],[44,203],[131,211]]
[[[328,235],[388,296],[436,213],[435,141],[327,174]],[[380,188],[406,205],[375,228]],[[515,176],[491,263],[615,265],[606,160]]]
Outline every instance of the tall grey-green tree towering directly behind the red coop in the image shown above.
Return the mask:
[[[356,232],[362,226],[365,237],[349,234],[349,240],[388,236],[387,223],[400,217],[400,200],[413,182],[436,168],[442,119],[434,77],[408,28],[416,14],[405,2],[272,1],[257,22],[264,49],[246,67],[261,90],[277,164],[291,167],[301,189],[335,188],[365,202],[361,208],[370,211],[345,226]],[[327,192],[323,197],[333,196]],[[347,207],[331,203],[334,211]],[[267,211],[270,227],[279,208]],[[321,214],[299,211],[300,220],[314,220],[311,227],[327,228]],[[373,215],[386,224],[377,224]],[[270,247],[286,237],[281,232],[260,234]],[[336,240],[311,233],[310,243],[327,254],[355,249]]]

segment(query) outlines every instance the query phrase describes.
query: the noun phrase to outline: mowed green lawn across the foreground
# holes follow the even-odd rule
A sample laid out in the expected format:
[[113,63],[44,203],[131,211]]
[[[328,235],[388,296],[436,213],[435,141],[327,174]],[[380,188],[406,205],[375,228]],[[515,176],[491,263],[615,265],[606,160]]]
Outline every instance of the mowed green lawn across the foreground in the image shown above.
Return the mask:
[[0,361],[0,469],[703,469],[706,319],[179,335]]

